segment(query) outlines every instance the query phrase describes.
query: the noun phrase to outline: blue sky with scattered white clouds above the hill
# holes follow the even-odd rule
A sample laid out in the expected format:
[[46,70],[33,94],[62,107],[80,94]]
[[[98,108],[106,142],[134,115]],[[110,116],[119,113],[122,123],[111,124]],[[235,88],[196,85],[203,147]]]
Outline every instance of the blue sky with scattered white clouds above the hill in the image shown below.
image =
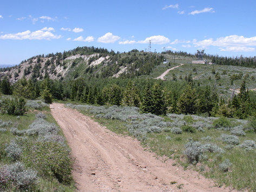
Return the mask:
[[256,1],[1,1],[0,64],[78,46],[256,55]]

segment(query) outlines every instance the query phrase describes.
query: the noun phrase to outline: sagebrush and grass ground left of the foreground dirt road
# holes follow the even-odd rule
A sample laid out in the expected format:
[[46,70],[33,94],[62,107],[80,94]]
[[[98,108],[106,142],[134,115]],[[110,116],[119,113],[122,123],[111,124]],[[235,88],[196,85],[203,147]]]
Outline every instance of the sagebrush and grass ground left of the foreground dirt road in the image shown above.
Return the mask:
[[70,149],[49,105],[26,107],[22,116],[0,114],[0,191],[74,191]]

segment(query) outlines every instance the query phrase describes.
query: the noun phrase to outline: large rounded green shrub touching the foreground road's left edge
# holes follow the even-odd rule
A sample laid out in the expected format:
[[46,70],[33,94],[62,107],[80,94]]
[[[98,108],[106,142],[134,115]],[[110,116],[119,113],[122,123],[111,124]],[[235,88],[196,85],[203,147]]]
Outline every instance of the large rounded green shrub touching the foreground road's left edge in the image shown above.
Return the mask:
[[56,177],[61,183],[72,181],[70,150],[63,143],[24,142],[23,162],[39,175]]

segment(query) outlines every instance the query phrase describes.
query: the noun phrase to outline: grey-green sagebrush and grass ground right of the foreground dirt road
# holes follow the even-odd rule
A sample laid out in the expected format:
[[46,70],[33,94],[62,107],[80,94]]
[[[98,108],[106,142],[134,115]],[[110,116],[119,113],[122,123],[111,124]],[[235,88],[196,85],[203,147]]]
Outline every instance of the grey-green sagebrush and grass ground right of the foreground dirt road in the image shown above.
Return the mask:
[[[141,114],[135,107],[66,104],[117,134],[134,136],[148,150],[195,169],[217,186],[255,191],[255,120],[195,115]],[[254,128],[254,129],[253,129]]]

